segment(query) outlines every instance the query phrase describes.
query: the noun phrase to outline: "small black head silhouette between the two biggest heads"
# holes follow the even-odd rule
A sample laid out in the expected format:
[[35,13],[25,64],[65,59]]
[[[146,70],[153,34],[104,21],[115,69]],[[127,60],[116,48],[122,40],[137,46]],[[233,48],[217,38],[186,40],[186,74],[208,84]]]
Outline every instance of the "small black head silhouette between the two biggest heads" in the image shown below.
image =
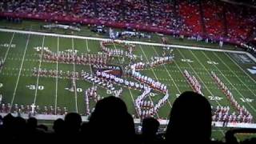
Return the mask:
[[154,136],[158,132],[160,123],[155,118],[144,118],[142,120],[142,134],[147,136]]

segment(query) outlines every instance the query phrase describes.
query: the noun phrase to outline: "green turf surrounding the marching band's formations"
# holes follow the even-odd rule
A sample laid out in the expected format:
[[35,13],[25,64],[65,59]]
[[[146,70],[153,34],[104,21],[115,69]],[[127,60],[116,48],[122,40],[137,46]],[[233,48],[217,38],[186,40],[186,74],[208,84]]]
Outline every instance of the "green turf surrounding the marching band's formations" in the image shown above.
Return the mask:
[[[62,78],[36,78],[31,76],[31,70],[34,67],[38,68],[40,66],[40,68],[47,70],[57,69],[57,63],[41,62],[40,64],[40,57],[33,48],[35,46],[47,46],[50,50],[57,52],[72,50],[74,46],[74,49],[78,50],[78,54],[88,53],[88,51],[96,54],[100,51],[98,41],[4,32],[0,33],[0,37],[0,44],[9,44],[12,37],[14,37],[11,43],[16,45],[16,47],[10,47],[8,54],[6,54],[8,47],[1,46],[0,49],[1,58],[5,58],[6,56],[6,63],[1,72],[1,82],[3,84],[1,91],[6,103],[26,105],[36,102],[39,106],[66,106],[70,111],[78,111],[84,114],[85,104],[83,102],[83,93],[78,92],[76,97],[74,93],[65,90],[66,87],[70,86],[70,80]],[[27,40],[28,37],[30,38]],[[122,46],[118,45],[110,46],[110,48],[123,49]],[[142,55],[143,61],[148,62],[150,61],[150,57],[162,54],[162,47],[137,45],[134,54]],[[170,102],[161,108],[159,117],[166,118],[170,111],[170,106],[176,98],[176,94],[180,94],[185,90],[191,90],[182,75],[184,70],[189,70],[190,74],[194,74],[198,78],[202,84],[202,92],[207,98],[212,95],[223,98],[221,101],[210,101],[213,106],[228,106],[230,103],[222,94],[221,90],[218,90],[218,87],[210,77],[210,71],[213,70],[226,83],[226,86],[230,88],[237,101],[246,106],[255,116],[255,101],[242,102],[240,99],[255,98],[255,76],[245,70],[245,67],[254,66],[254,63],[242,65],[234,61],[229,54],[224,52],[174,49],[174,54],[175,60],[173,63],[142,70],[142,74],[166,83],[170,90]],[[23,56],[24,60],[22,59]],[[193,62],[182,62],[181,59],[190,59]],[[210,65],[207,61],[218,62],[218,65]],[[114,63],[120,65],[119,59],[116,58]],[[21,67],[22,70],[20,71]],[[58,63],[58,70],[73,71],[74,69],[78,72],[82,70],[90,72],[90,66],[73,66],[72,64]],[[249,75],[246,75],[245,72]],[[18,76],[20,77],[18,78]],[[26,87],[28,85],[36,86],[37,84],[38,86],[43,86],[44,89],[30,90]],[[86,90],[90,86],[92,84],[89,82],[78,80],[78,88]],[[129,90],[124,91],[125,94],[122,97],[126,103],[129,103],[128,108],[130,113],[135,114],[134,106],[130,106],[130,104],[133,103],[132,98],[137,98],[140,92],[138,90],[131,90],[130,94]],[[102,94],[104,95],[104,93],[106,93],[106,90],[102,89]],[[158,94],[158,97],[152,99],[157,101],[161,97],[162,95]]]

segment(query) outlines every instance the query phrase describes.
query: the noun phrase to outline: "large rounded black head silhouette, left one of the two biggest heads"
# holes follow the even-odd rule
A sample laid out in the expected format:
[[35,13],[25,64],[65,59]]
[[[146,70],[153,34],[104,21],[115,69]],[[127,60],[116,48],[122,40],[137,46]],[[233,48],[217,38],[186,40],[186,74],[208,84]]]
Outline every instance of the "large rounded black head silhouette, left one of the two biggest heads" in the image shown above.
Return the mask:
[[134,120],[120,98],[110,96],[98,101],[89,125],[90,134],[103,142],[134,141]]

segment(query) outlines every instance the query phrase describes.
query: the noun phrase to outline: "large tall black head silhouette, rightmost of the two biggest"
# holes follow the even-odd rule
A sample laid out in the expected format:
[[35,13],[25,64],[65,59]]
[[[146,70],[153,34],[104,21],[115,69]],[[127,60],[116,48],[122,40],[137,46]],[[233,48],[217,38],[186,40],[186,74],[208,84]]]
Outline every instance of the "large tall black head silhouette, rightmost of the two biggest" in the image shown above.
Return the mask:
[[201,94],[182,93],[170,111],[167,142],[209,142],[211,134],[210,103]]

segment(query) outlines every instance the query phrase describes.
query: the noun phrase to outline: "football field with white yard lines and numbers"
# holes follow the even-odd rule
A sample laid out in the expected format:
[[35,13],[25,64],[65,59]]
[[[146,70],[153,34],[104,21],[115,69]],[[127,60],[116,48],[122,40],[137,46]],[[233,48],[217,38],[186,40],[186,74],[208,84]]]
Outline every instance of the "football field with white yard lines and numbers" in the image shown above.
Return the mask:
[[[63,62],[48,62],[42,58],[42,54],[36,51],[37,47],[47,47],[52,52],[68,52],[77,50],[77,54],[98,54],[102,52],[100,41],[93,38],[64,38],[62,35],[49,36],[37,34],[20,34],[18,32],[0,32],[0,60],[4,61],[0,69],[0,94],[2,103],[9,104],[11,110],[14,106],[27,106],[34,103],[38,106],[38,113],[43,114],[45,107],[52,109],[51,114],[58,114],[58,110],[78,112],[86,114],[86,102],[84,91],[94,83],[78,79],[75,82],[74,91],[69,90],[72,80],[64,77],[50,77],[34,75],[34,69],[56,70],[63,72],[78,72],[82,70],[94,74],[91,66],[79,64],[67,64]],[[126,50],[123,44],[108,46],[113,50]],[[236,112],[226,95],[218,88],[211,77],[211,71],[225,83],[235,100],[245,106],[246,110],[256,118],[256,63],[250,54],[231,50],[195,50],[192,48],[173,47],[174,62],[154,66],[140,72],[147,77],[166,84],[170,97],[162,106],[155,118],[167,118],[171,106],[179,94],[186,90],[193,90],[184,77],[184,70],[194,75],[202,85],[202,94],[209,99],[212,106],[230,106],[230,112]],[[157,45],[136,44],[134,54],[138,58],[136,62],[150,62],[151,57],[159,57],[163,53],[163,47]],[[110,65],[124,68],[129,64],[122,58],[114,58]],[[122,76],[126,78],[126,76]],[[133,78],[127,78],[135,81]],[[117,86],[121,87],[121,86]],[[121,98],[126,102],[130,114],[138,118],[134,108],[134,100],[142,91],[122,87]],[[97,93],[102,97],[110,94],[104,87],[99,87]],[[149,101],[154,104],[164,95],[152,91]],[[93,109],[95,102],[90,102]]]

